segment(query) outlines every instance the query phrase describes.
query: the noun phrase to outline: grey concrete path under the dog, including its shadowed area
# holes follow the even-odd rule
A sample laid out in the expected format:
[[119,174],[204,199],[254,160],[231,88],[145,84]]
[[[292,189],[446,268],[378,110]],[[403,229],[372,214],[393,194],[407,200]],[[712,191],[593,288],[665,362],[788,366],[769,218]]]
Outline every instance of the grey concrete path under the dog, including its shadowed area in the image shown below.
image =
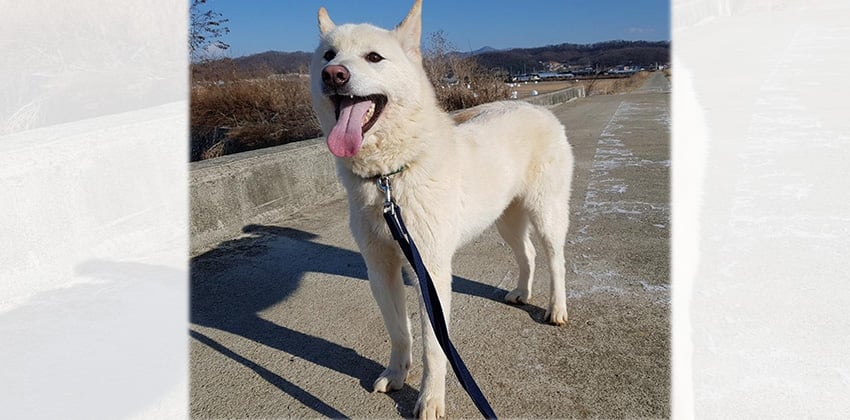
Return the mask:
[[[670,415],[669,82],[552,108],[576,155],[567,244],[570,323],[502,302],[517,267],[494,229],[455,257],[452,334],[500,417]],[[323,200],[324,201],[324,200]],[[191,262],[191,415],[409,417],[422,369],[372,394],[389,342],[340,196]],[[478,417],[450,374],[449,417]]]

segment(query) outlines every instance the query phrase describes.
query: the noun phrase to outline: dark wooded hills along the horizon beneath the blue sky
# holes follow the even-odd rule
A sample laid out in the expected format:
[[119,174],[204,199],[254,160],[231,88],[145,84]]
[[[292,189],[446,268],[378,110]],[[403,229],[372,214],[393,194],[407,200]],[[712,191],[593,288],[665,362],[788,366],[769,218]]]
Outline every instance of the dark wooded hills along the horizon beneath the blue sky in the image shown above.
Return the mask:
[[[567,65],[612,67],[620,64],[651,65],[670,62],[669,41],[606,41],[595,44],[559,44],[537,48],[497,50],[479,48],[472,52],[457,52],[460,56],[473,55],[488,68],[501,68],[519,73],[543,71],[542,63],[558,62]],[[312,53],[304,51],[266,51],[234,58],[233,63],[244,71],[262,69],[274,73],[306,73]]]

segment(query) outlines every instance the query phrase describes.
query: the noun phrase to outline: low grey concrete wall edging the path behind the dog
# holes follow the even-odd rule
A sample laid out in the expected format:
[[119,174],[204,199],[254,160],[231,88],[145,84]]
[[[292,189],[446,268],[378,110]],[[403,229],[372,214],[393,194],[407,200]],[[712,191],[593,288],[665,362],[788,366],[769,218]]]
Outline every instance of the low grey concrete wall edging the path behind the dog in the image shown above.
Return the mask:
[[[584,88],[578,87],[525,100],[556,105],[581,97]],[[192,255],[239,236],[243,226],[280,220],[342,192],[323,137],[194,162],[189,166]]]

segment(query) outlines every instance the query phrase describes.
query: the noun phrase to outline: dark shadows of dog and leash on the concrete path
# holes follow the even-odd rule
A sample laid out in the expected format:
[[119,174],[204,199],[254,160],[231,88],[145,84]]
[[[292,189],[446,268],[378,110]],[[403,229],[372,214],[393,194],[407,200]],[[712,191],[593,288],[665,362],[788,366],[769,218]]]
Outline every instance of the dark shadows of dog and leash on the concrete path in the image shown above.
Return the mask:
[[[193,325],[215,328],[281,350],[297,358],[343,373],[372,391],[372,381],[383,371],[382,364],[327,338],[316,337],[263,319],[258,314],[281,302],[299,287],[305,273],[318,272],[367,280],[359,253],[320,244],[316,235],[277,226],[249,225],[250,236],[223,242],[192,258],[190,267],[190,320]],[[454,277],[458,293],[498,300],[507,293],[493,286]],[[521,305],[542,322],[542,309]],[[322,415],[348,417],[286,378],[255,361],[239,355],[198,330],[190,336],[222,355],[252,369],[260,377]],[[201,361],[193,361],[200,363]],[[388,393],[400,415],[410,417],[418,391],[405,384]]]

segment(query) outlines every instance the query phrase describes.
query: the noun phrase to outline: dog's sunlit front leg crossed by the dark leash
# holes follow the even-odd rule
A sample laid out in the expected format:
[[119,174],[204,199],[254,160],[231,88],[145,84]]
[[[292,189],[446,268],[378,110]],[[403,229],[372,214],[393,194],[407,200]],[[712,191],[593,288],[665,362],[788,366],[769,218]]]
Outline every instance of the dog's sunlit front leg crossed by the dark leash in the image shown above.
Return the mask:
[[[452,306],[452,273],[451,256],[425,261],[437,295],[440,297],[440,305],[443,308],[443,316],[446,319],[446,328],[450,324]],[[422,383],[419,387],[419,399],[416,401],[414,415],[420,419],[436,419],[445,417],[446,414],[446,355],[437,336],[428,320],[425,303],[420,296],[419,299],[420,320],[422,322]]]

